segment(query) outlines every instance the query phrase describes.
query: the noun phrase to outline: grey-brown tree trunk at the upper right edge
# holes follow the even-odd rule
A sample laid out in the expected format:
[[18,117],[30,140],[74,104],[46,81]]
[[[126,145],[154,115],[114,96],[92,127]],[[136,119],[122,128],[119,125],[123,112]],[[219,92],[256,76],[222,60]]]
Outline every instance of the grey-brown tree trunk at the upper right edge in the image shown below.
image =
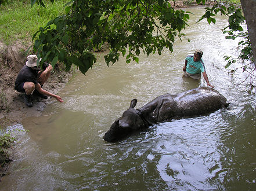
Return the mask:
[[253,50],[254,66],[256,68],[256,0],[241,0],[244,17],[246,17],[251,49]]

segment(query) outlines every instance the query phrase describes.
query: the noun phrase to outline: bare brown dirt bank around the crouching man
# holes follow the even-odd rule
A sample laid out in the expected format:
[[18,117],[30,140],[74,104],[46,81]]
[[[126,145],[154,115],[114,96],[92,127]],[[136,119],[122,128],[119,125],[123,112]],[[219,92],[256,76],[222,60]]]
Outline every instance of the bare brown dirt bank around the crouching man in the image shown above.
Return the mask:
[[[1,127],[20,123],[23,117],[39,116],[44,110],[46,104],[56,101],[55,98],[48,97],[42,100],[33,97],[34,106],[28,108],[23,101],[24,93],[19,93],[14,89],[15,79],[26,63],[26,56],[20,50],[26,48],[17,43],[12,46],[5,46],[0,42],[0,124]],[[68,79],[74,72],[64,72],[58,65],[55,67],[52,75],[45,83],[44,89],[57,94],[63,89]]]

